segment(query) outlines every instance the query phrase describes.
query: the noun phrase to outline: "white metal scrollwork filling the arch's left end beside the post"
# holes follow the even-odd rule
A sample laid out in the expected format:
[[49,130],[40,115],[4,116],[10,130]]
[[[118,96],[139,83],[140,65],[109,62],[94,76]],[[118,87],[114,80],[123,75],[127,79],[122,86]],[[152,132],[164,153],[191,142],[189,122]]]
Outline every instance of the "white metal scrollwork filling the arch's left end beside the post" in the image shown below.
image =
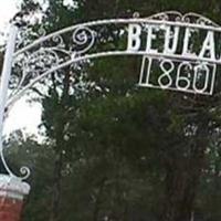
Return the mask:
[[[11,94],[9,99],[13,97],[32,80],[41,76],[54,66],[59,66],[65,61],[70,61],[73,57],[81,56],[88,52],[95,44],[95,31],[88,27],[80,25],[76,29],[71,30],[71,41],[66,40],[66,32],[51,34],[45,36],[45,31],[41,29],[38,33],[32,33],[30,29],[21,31],[19,40],[23,39],[23,42],[18,42],[18,49],[21,45],[29,43],[31,46],[24,46],[21,53],[15,54],[14,59],[14,74],[11,77]],[[31,34],[32,33],[32,34]],[[42,35],[42,41],[38,44],[30,43],[30,39],[38,39]],[[33,38],[32,38],[33,36]],[[24,41],[24,39],[27,39]],[[69,39],[69,38],[67,38]]]

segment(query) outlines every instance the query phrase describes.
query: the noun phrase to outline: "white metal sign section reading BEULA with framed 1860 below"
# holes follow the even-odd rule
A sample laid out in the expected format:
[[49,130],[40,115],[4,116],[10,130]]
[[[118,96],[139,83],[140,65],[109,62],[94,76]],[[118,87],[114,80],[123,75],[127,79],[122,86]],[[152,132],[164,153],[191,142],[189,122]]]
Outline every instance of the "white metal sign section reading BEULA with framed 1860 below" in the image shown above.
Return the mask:
[[[154,18],[162,23],[129,25],[128,50],[152,54],[143,57],[138,85],[211,95],[221,61],[218,24],[196,13],[169,12]],[[143,32],[146,44],[141,44]]]

